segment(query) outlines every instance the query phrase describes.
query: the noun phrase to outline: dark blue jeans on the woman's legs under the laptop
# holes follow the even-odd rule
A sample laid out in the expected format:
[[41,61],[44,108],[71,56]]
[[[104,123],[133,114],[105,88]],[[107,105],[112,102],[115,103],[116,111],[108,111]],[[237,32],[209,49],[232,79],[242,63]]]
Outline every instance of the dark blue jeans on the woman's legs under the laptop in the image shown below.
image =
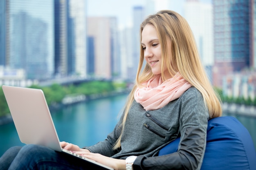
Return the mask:
[[[0,170],[101,169],[79,158],[40,145],[14,146],[0,157]],[[103,169],[103,168],[102,168]]]

